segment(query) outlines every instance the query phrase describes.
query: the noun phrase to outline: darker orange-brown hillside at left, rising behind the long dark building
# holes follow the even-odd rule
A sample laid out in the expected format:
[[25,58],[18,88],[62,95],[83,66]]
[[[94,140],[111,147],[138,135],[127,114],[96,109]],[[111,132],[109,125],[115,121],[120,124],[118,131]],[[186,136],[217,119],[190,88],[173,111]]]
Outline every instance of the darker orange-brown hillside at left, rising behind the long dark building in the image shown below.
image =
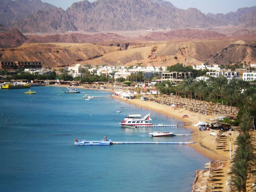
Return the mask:
[[66,67],[119,50],[93,44],[23,44],[13,49],[0,49],[0,61],[42,61],[43,67]]

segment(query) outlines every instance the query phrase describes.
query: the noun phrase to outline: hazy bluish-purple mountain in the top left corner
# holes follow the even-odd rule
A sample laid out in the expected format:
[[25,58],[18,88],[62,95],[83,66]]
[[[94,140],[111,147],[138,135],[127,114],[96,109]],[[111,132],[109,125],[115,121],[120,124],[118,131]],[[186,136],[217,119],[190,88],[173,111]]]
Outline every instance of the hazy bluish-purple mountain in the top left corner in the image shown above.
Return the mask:
[[32,12],[55,8],[41,0],[0,0],[0,23],[11,26]]

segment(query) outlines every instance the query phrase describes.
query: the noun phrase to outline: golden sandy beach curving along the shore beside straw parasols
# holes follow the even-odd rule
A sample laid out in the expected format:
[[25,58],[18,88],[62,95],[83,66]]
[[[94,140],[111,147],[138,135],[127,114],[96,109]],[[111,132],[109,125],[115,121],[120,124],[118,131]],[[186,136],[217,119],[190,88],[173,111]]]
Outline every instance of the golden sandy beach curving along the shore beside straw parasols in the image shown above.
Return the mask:
[[[53,86],[53,85],[51,85]],[[54,85],[58,86],[58,85]],[[66,87],[66,85],[60,85],[58,87]],[[78,89],[87,89],[82,86],[76,87]],[[91,90],[99,90],[99,89],[92,89]],[[113,91],[110,89],[105,89],[101,91]],[[226,182],[229,180],[229,175],[227,173],[230,169],[230,154],[233,154],[233,142],[236,137],[236,131],[231,131],[230,135],[228,135],[228,132],[223,132],[225,134],[224,137],[221,137],[221,142],[225,143],[224,146],[216,147],[216,143],[213,143],[213,140],[215,139],[214,136],[209,135],[211,131],[199,131],[198,126],[195,127],[194,124],[197,124],[199,120],[201,119],[201,122],[207,122],[207,119],[215,119],[215,116],[212,115],[199,115],[198,113],[193,113],[191,111],[186,111],[183,108],[179,110],[175,110],[171,106],[159,104],[157,102],[150,102],[150,101],[142,101],[140,99],[124,99],[119,96],[113,96],[115,99],[119,99],[123,102],[127,102],[131,105],[136,105],[136,107],[142,107],[145,109],[148,109],[150,111],[155,111],[158,113],[162,113],[167,116],[167,118],[175,118],[178,119],[180,122],[191,122],[192,125],[185,126],[185,128],[191,129],[193,131],[192,134],[192,141],[195,143],[189,144],[192,148],[194,148],[199,153],[203,154],[206,157],[209,157],[211,160],[219,160],[217,165],[215,165],[215,168],[218,169],[212,169],[213,172],[216,173],[216,179],[212,180],[210,183],[212,185],[217,186],[220,191],[229,191],[229,189],[226,189]],[[193,102],[193,101],[191,101]],[[189,116],[188,118],[182,118],[183,115]],[[231,145],[230,145],[231,143]],[[231,149],[231,150],[230,150]],[[207,168],[206,168],[207,170]],[[206,170],[197,171],[197,174],[195,175],[195,181],[192,186],[192,191],[200,191],[200,187],[204,186],[203,181],[203,172]],[[216,171],[217,170],[217,171]],[[210,184],[208,183],[208,184]]]

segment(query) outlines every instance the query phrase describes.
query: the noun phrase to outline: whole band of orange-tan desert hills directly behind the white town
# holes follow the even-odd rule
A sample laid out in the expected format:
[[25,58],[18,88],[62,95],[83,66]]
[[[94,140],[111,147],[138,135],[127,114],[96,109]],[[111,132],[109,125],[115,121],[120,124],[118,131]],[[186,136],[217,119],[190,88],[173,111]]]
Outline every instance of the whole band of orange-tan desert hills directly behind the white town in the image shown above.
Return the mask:
[[127,49],[95,44],[42,43],[23,44],[0,49],[1,61],[42,61],[43,67],[67,67],[77,63],[90,65],[170,66],[176,63],[198,65],[230,64],[256,61],[256,40],[212,40],[185,42],[150,42],[130,44]]

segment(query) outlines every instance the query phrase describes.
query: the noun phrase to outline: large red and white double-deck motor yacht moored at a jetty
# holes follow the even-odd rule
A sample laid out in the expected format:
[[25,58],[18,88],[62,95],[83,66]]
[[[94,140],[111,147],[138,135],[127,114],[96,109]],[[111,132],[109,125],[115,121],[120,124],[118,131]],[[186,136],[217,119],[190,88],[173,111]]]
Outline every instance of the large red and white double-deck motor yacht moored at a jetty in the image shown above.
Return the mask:
[[119,124],[122,125],[122,127],[136,127],[138,125],[153,125],[151,122],[152,119],[150,119],[150,113],[148,113],[146,116],[143,118],[141,115],[128,115],[125,117],[125,119],[120,122]]

